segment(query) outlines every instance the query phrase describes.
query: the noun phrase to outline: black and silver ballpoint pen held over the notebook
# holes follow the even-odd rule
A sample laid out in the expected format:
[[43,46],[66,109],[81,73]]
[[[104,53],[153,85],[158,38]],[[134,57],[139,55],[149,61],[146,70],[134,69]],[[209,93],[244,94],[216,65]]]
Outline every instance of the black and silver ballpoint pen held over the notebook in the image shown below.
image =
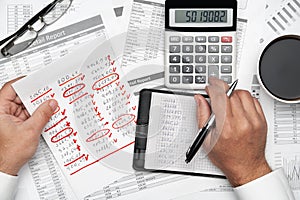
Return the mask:
[[[228,89],[228,91],[226,93],[226,95],[228,97],[230,97],[230,95],[234,91],[237,83],[238,83],[238,80],[236,80],[234,83],[231,84],[230,88]],[[210,115],[210,117],[208,118],[207,122],[205,123],[205,125],[203,126],[203,128],[201,128],[198,131],[196,138],[194,139],[192,145],[189,147],[189,149],[186,152],[186,160],[185,160],[186,163],[191,162],[193,157],[196,155],[196,153],[200,149],[200,147],[203,144],[207,134],[209,133],[209,130],[211,129],[212,125],[215,122],[215,118],[216,118],[215,114],[212,113]]]

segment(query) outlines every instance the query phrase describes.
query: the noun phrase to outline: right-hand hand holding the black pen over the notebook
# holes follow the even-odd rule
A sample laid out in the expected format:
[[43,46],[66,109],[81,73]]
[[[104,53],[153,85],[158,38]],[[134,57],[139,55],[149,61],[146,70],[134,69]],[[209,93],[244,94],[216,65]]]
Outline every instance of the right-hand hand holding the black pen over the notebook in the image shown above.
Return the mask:
[[215,143],[208,148],[208,157],[237,187],[271,172],[265,158],[267,123],[258,100],[249,92],[236,90],[228,98],[227,90],[226,83],[211,78],[206,87],[211,108],[201,95],[195,100],[199,127],[207,121],[210,109],[216,115],[216,128],[204,143],[206,147]]

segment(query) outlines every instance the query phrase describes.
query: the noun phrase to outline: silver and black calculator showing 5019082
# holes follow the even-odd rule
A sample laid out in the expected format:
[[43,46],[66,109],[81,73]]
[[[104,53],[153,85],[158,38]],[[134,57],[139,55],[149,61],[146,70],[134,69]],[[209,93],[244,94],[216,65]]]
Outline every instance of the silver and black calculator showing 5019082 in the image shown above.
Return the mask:
[[204,89],[210,76],[236,78],[237,1],[167,0],[165,85]]

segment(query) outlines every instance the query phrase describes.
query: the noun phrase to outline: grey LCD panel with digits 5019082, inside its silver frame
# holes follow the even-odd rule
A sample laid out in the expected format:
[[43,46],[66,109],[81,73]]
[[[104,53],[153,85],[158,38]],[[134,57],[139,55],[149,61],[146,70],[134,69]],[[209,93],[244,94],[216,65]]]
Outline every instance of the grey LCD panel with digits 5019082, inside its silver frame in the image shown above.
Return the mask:
[[176,10],[175,23],[227,23],[227,10]]

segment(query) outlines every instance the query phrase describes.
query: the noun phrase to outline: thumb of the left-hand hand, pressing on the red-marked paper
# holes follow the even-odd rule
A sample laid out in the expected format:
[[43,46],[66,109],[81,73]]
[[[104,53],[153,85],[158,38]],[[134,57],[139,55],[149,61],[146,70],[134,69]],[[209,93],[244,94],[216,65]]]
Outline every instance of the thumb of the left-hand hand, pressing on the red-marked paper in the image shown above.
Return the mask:
[[25,122],[25,126],[30,127],[36,133],[41,133],[57,107],[58,103],[53,99],[44,102]]

